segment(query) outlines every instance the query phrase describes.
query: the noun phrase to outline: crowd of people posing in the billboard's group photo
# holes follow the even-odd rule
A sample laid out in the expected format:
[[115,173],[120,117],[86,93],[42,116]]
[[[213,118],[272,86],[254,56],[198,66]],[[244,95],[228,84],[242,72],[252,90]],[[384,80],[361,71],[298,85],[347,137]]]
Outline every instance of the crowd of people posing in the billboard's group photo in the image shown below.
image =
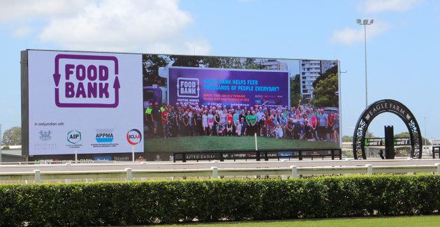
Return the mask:
[[323,108],[267,108],[150,103],[145,121],[153,138],[254,136],[339,142],[339,115]]

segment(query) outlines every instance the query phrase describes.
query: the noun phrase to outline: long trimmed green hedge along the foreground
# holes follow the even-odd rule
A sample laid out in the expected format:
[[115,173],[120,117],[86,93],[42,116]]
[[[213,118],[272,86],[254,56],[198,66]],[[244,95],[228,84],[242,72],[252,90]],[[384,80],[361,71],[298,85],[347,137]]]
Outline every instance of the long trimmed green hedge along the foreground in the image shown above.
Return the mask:
[[0,185],[0,226],[431,214],[439,175]]

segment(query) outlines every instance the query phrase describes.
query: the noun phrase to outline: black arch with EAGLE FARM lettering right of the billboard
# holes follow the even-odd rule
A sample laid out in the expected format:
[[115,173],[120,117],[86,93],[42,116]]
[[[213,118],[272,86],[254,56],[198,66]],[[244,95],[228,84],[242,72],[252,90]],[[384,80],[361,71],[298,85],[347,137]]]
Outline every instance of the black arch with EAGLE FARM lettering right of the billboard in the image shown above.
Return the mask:
[[356,124],[353,134],[353,155],[355,159],[367,159],[365,154],[365,133],[369,124],[373,121],[374,117],[377,117],[383,112],[391,112],[402,119],[408,128],[409,136],[411,137],[411,158],[422,158],[422,133],[420,133],[420,127],[418,126],[416,117],[413,113],[406,108],[405,105],[392,99],[383,99],[376,101],[369,105],[360,118],[358,124]]

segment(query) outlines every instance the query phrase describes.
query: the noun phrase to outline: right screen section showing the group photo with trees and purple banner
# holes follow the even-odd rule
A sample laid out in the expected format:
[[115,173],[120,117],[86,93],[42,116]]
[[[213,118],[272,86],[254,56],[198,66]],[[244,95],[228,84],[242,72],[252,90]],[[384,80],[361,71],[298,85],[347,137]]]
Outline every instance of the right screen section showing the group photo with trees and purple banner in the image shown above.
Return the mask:
[[149,159],[340,147],[339,61],[154,54],[142,61]]

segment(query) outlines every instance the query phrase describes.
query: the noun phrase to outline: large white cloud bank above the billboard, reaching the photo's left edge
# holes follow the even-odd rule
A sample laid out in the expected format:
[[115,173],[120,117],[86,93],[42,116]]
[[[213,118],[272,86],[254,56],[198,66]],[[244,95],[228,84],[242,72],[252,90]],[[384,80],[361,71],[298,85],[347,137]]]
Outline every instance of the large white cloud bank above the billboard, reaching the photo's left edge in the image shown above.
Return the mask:
[[[13,31],[25,36],[29,23],[45,20],[38,37],[67,50],[209,54],[205,38],[185,36],[193,24],[178,0],[10,1],[0,10],[0,22],[28,24]],[[187,33],[187,32],[186,32]]]

